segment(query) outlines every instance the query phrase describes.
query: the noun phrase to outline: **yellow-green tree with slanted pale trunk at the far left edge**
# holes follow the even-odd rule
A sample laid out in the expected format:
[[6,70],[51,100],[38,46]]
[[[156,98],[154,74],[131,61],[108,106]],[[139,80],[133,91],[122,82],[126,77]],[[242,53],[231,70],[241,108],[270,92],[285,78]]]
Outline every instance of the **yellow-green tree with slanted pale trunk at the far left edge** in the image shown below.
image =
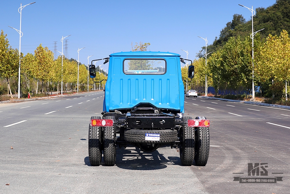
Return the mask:
[[[19,67],[19,52],[17,49],[9,47],[9,41],[6,38],[7,34],[4,35],[3,30],[1,30],[0,35],[0,77],[3,77],[6,79],[6,82],[8,84],[8,94],[10,91],[10,96],[12,96],[11,88],[9,79],[12,76],[16,76],[18,72]],[[8,48],[9,47],[9,48]]]

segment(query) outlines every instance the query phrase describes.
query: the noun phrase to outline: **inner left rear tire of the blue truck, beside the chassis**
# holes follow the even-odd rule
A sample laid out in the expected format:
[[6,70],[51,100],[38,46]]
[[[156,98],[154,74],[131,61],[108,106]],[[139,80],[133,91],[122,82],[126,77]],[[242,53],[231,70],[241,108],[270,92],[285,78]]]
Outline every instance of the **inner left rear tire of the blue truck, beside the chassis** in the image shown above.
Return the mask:
[[[103,119],[113,119],[114,116],[105,116]],[[114,166],[116,162],[116,125],[104,127],[104,162],[107,166]]]

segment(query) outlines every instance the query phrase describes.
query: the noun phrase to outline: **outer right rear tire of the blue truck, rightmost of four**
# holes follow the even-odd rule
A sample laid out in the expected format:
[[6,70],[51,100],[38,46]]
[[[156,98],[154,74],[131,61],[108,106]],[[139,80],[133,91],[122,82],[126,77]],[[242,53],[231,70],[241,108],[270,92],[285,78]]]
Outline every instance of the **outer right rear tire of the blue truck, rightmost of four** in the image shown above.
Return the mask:
[[[206,119],[197,116],[195,119]],[[195,127],[195,156],[197,166],[205,166],[209,159],[209,127]]]

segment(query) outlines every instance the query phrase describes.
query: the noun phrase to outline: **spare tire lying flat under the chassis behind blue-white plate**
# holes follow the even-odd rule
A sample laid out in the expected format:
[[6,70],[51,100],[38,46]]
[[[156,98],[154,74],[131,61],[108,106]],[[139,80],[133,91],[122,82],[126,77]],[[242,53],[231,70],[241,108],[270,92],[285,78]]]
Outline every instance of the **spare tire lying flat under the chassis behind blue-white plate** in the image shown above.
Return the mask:
[[[147,134],[160,134],[159,141],[145,140]],[[170,143],[177,141],[177,130],[139,130],[131,129],[124,132],[124,140],[134,143]]]

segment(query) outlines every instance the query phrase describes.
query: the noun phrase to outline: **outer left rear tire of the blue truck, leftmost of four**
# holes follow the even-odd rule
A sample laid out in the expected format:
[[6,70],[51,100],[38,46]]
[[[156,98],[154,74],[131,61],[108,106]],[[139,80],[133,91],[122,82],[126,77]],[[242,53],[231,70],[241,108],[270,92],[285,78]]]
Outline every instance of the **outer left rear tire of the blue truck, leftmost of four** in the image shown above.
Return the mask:
[[[100,116],[92,116],[91,119],[101,119]],[[102,130],[101,127],[89,125],[89,160],[92,166],[100,166],[102,161]]]

